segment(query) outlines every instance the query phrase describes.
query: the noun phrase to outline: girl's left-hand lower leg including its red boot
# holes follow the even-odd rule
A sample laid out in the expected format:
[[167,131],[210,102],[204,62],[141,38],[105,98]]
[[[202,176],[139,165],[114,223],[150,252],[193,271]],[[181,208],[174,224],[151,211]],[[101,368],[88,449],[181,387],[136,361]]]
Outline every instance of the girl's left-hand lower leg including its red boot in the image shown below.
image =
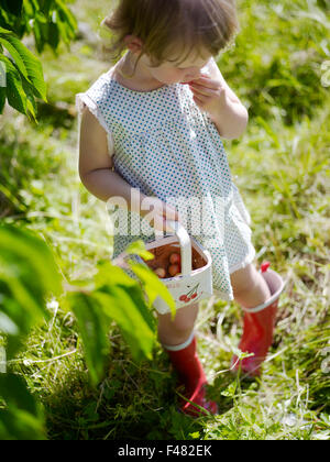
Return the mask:
[[197,404],[211,414],[216,414],[218,406],[206,399],[205,385],[207,378],[197,355],[197,342],[194,324],[198,315],[198,304],[179,308],[174,320],[170,314],[158,316],[158,339],[167,352],[170,362],[178,373],[179,385],[184,385],[183,395],[189,399],[180,399],[180,411],[193,417],[206,414],[194,406]]

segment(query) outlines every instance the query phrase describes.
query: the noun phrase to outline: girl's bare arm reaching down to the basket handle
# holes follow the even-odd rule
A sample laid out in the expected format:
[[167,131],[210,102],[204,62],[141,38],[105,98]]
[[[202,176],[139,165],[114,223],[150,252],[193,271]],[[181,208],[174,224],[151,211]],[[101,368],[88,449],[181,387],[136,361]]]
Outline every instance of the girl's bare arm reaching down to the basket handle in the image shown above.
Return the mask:
[[[88,109],[82,112],[79,144],[79,176],[84,186],[103,201],[114,196],[124,198],[131,210],[132,187],[112,170],[107,132]],[[146,196],[140,191],[140,197],[143,200]]]

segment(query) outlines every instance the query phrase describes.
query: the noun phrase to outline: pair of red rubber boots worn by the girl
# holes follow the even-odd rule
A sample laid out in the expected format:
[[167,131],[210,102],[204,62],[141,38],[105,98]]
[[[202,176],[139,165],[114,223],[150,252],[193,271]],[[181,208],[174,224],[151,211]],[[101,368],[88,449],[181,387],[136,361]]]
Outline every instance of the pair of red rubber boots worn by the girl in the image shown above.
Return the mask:
[[[254,353],[254,355],[241,361],[238,356],[232,359],[231,370],[234,372],[241,370],[248,377],[261,374],[261,365],[273,342],[278,299],[285,286],[279,274],[268,267],[270,263],[264,262],[260,271],[270,287],[271,298],[257,307],[243,308],[245,311],[244,329],[239,349],[242,352]],[[195,331],[180,345],[163,344],[163,346],[178,373],[179,385],[184,386],[183,396],[185,398],[180,399],[179,410],[193,417],[208,415],[208,413],[218,414],[217,403],[206,398],[208,382],[197,355]]]

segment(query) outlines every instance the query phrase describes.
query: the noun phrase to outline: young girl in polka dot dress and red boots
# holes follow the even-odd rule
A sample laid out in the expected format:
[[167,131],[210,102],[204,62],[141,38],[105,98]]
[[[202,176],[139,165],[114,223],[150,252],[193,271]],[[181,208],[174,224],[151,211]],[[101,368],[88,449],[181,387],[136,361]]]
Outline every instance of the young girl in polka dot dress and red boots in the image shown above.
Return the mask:
[[[145,199],[161,201],[156,215],[163,226],[165,217],[182,220],[166,198],[207,198],[208,232],[196,235],[191,223],[185,227],[211,253],[216,294],[235,299],[245,311],[240,349],[254,355],[233,358],[232,370],[258,375],[272,344],[284,283],[267,270],[268,263],[261,271],[253,265],[250,215],[221,141],[241,136],[249,118],[213,58],[239,30],[234,0],[119,0],[103,23],[114,37],[110,51],[117,64],[77,96],[82,113],[79,175],[99,199],[122,199],[117,211],[125,212],[130,231],[114,235],[113,258],[138,239],[155,240],[158,220],[152,234],[141,232]],[[138,211],[132,199],[136,190]],[[212,202],[219,198],[221,213]],[[140,233],[133,232],[136,223]],[[196,350],[198,304],[177,310],[174,320],[169,309],[156,314],[160,342],[184,385],[187,399],[180,402],[180,410],[216,414]]]

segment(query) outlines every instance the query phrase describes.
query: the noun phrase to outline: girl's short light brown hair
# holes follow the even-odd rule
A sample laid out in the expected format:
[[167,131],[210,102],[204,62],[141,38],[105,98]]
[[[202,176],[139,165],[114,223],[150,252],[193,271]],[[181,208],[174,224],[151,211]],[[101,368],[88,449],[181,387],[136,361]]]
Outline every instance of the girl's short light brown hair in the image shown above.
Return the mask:
[[[117,0],[117,8],[102,25],[111,31],[107,51],[117,62],[134,35],[143,42],[140,58],[152,67],[165,61],[183,63],[195,50],[217,56],[239,31],[235,0]],[[184,55],[184,51],[187,53]],[[175,56],[176,54],[176,56]],[[182,59],[179,59],[182,57]],[[134,75],[134,74],[133,74]]]

